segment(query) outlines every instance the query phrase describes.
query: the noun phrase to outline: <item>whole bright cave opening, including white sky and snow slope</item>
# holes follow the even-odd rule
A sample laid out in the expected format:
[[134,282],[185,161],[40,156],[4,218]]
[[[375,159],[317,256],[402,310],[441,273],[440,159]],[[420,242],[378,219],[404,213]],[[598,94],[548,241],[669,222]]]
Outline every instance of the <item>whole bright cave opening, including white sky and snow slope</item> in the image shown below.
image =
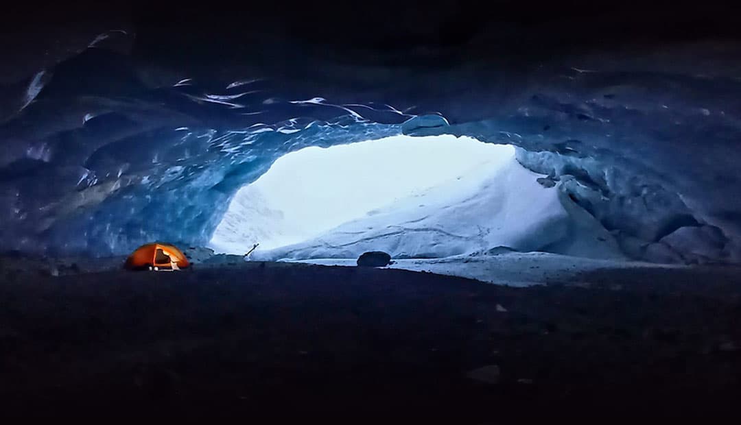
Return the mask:
[[501,247],[622,258],[611,235],[543,177],[511,145],[453,135],[307,147],[236,193],[210,247],[242,254],[259,243],[253,258],[266,260]]

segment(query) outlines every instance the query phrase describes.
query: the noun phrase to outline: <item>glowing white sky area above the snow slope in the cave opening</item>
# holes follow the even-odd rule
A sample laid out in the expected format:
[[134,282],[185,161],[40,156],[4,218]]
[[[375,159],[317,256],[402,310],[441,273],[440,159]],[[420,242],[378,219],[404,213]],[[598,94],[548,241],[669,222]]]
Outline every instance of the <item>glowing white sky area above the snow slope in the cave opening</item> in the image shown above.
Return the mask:
[[458,196],[512,158],[510,145],[453,135],[307,147],[236,193],[210,247],[243,254],[256,243],[261,251],[298,244],[434,187]]

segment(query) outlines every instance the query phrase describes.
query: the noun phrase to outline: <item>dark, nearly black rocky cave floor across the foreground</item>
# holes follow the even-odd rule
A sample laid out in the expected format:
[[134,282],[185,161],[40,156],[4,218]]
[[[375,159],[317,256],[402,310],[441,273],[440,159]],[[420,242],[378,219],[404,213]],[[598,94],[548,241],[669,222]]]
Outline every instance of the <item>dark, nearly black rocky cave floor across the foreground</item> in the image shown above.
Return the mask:
[[728,270],[525,288],[281,263],[1,275],[0,415],[498,424],[740,410],[741,276]]

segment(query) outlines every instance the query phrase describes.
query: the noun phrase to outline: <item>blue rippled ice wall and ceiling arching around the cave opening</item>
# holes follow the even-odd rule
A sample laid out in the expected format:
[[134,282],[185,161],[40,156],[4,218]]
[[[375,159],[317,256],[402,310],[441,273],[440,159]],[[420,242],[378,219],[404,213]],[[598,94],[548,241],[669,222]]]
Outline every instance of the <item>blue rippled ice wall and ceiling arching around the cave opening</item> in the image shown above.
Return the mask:
[[205,244],[236,190],[280,155],[448,133],[521,148],[521,164],[559,184],[633,258],[741,261],[738,47],[514,71],[469,60],[485,41],[433,67],[306,56],[311,66],[294,74],[256,58],[210,79],[93,45],[4,88],[0,241],[93,255],[153,239]]

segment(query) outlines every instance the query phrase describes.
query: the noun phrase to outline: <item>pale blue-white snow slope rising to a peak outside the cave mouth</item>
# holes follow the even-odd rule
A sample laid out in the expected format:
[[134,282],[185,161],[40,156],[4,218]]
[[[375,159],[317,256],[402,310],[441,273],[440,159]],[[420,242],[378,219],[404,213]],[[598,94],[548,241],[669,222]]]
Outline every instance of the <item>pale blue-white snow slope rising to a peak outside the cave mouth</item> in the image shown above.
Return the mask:
[[393,258],[445,258],[508,247],[624,259],[601,224],[559,186],[539,184],[539,177],[522,167],[511,151],[496,164],[482,162],[463,175],[393,201],[316,238],[258,250],[252,258],[357,258],[371,250],[388,252]]

